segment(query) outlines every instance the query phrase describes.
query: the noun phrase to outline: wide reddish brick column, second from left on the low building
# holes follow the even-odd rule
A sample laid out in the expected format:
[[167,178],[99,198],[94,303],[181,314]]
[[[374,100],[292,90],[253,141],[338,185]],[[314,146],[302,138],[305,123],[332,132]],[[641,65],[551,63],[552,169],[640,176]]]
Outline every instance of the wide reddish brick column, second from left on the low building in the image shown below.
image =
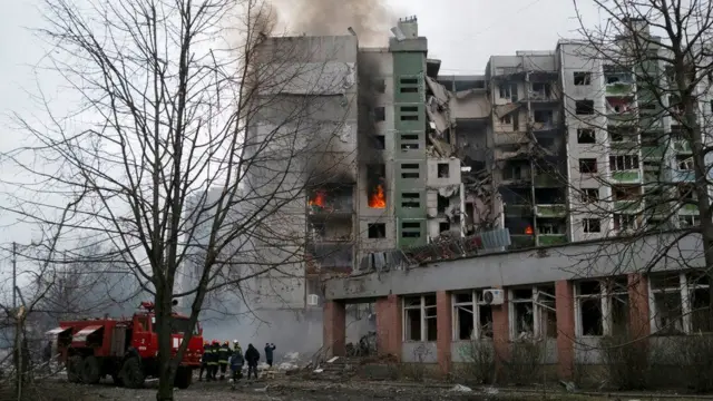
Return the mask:
[[377,346],[380,355],[401,360],[401,303],[397,295],[377,300]]

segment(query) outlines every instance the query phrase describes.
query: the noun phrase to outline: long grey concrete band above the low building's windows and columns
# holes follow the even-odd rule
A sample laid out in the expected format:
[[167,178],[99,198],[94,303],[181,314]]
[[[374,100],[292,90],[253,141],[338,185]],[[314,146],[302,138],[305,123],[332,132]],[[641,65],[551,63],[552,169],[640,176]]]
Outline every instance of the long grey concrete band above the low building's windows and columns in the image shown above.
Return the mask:
[[[389,294],[419,294],[496,286],[527,285],[573,280],[582,276],[607,276],[637,272],[651,263],[652,252],[674,241],[675,233],[653,235],[622,243],[582,243],[534,251],[511,252],[429,263],[424,267],[390,271],[326,283],[328,300],[359,300]],[[667,260],[654,270],[703,265],[700,239],[690,235],[677,243]]]

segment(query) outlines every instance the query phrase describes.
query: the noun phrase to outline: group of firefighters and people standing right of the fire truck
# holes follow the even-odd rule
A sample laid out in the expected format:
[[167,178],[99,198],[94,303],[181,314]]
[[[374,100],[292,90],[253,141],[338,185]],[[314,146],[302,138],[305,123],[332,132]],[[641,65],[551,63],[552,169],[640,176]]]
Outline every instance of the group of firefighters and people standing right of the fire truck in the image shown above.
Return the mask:
[[[267,365],[272,368],[273,351],[275,351],[275,344],[265,344],[265,360]],[[233,382],[243,378],[243,366],[247,363],[247,379],[251,376],[257,379],[257,362],[260,361],[260,351],[253,346],[247,345],[245,354],[237,340],[233,340],[233,349],[231,350],[227,341],[221,343],[217,340],[213,340],[211,343],[207,341],[203,344],[203,358],[201,359],[201,373],[198,380],[203,381],[203,373],[206,373],[207,381],[225,380],[225,373],[227,366],[231,366],[233,373]],[[218,378],[218,370],[221,375]]]

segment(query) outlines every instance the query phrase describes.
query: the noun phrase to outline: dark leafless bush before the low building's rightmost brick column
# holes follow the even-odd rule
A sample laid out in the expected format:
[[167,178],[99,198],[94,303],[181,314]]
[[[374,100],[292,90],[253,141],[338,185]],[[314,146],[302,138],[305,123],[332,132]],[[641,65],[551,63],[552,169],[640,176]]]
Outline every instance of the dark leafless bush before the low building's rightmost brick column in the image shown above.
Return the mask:
[[605,336],[599,341],[607,381],[617,390],[642,390],[648,384],[651,364],[647,339],[628,335]]

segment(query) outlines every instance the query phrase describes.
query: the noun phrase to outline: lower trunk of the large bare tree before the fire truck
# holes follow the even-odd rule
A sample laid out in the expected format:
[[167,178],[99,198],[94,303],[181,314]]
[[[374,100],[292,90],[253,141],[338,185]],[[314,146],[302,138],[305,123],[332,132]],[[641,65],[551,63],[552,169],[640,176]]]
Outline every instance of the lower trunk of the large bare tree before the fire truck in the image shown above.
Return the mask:
[[158,333],[158,392],[156,401],[173,401],[176,369],[170,358],[172,291],[162,285],[156,288],[156,329]]

